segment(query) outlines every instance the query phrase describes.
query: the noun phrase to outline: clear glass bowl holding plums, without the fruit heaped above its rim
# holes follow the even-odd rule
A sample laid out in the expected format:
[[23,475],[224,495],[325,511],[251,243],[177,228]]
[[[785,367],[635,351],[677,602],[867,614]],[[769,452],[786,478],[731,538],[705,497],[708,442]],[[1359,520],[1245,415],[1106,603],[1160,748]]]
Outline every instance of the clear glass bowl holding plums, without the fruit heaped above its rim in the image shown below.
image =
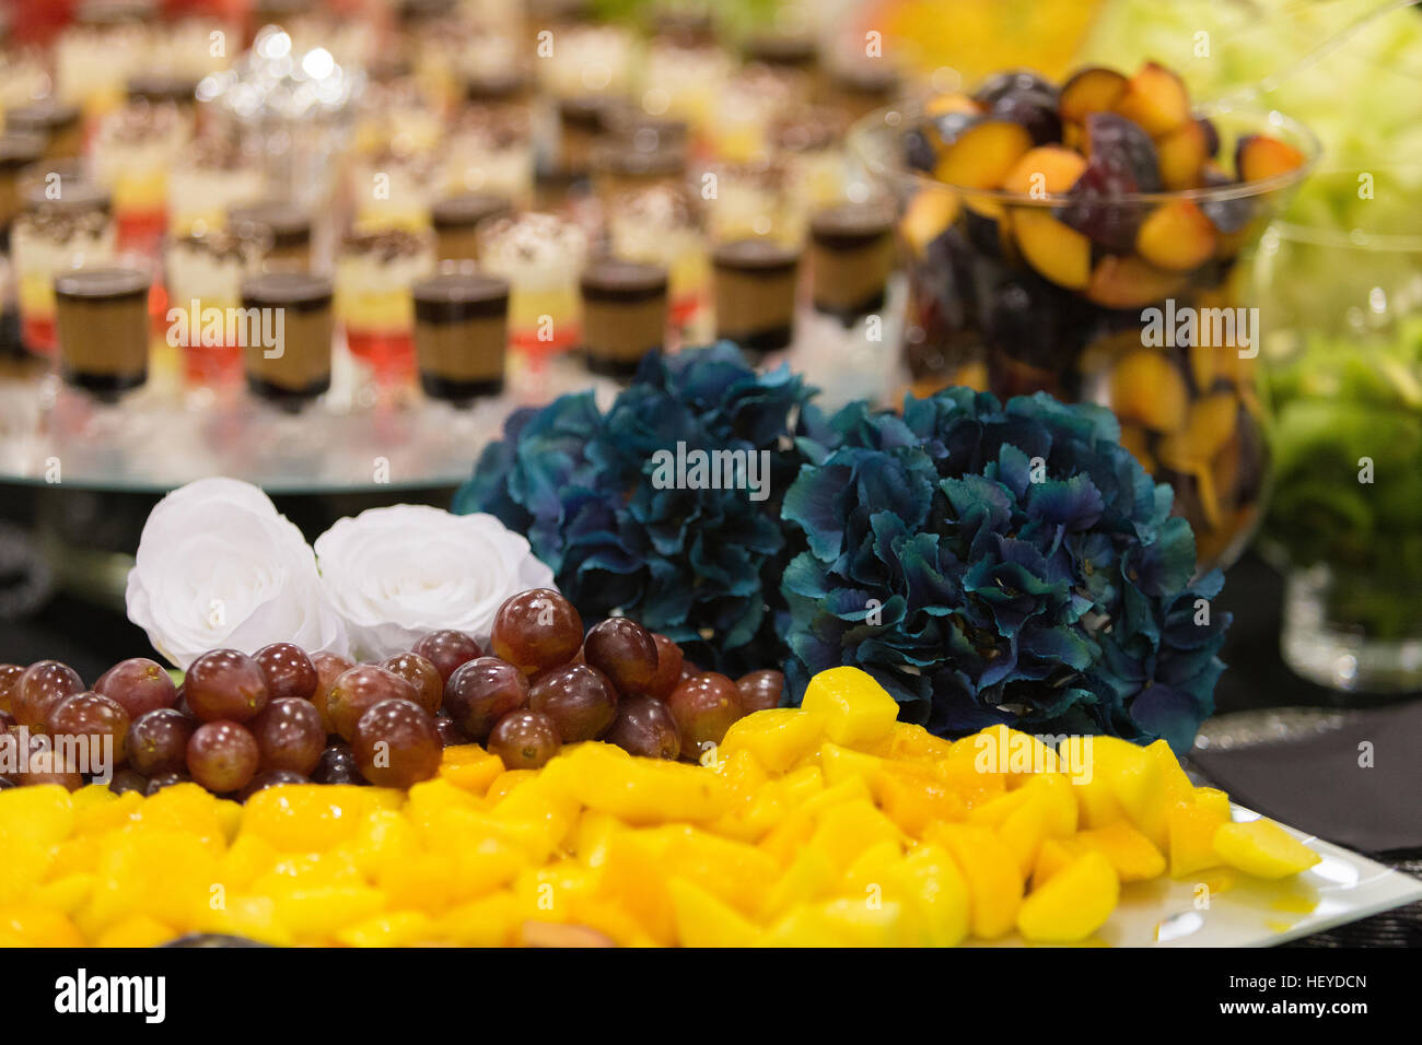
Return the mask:
[[919,115],[880,109],[852,132],[900,206],[914,391],[961,384],[1109,407],[1122,442],[1175,488],[1200,567],[1233,562],[1258,522],[1267,465],[1258,311],[1237,262],[1315,162],[1315,138],[1278,112],[1206,112],[1217,155],[1261,132],[1304,164],[1249,183],[1082,202],[924,175],[906,161]]

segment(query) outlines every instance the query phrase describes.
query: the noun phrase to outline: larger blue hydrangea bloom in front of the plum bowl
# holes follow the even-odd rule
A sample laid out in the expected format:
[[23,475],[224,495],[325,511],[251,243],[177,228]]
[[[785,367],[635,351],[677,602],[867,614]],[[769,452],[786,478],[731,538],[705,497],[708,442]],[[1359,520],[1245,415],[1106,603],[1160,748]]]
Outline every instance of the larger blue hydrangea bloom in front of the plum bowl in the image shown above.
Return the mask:
[[784,503],[805,539],[781,584],[793,700],[852,664],[946,735],[1189,748],[1223,668],[1223,579],[1192,584],[1190,526],[1109,411],[953,388],[829,428]]

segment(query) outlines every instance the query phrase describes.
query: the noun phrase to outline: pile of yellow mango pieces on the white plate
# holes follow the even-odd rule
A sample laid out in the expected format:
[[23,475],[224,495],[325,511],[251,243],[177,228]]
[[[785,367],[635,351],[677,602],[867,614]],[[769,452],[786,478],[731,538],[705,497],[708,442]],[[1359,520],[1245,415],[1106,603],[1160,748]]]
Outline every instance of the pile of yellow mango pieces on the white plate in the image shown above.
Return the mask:
[[742,718],[705,765],[448,748],[408,792],[0,792],[0,944],[953,945],[1096,933],[1122,883],[1318,856],[1231,823],[1163,742],[943,741],[856,668]]

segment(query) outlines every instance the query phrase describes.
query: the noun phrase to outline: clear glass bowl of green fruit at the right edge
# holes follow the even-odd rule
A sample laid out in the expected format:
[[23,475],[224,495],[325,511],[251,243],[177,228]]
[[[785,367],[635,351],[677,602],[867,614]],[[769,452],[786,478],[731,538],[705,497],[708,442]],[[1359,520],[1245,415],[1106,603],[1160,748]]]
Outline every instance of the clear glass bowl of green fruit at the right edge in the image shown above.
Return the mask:
[[1287,577],[1284,660],[1338,690],[1422,688],[1419,186],[1422,166],[1317,175],[1254,264],[1276,462],[1260,546]]

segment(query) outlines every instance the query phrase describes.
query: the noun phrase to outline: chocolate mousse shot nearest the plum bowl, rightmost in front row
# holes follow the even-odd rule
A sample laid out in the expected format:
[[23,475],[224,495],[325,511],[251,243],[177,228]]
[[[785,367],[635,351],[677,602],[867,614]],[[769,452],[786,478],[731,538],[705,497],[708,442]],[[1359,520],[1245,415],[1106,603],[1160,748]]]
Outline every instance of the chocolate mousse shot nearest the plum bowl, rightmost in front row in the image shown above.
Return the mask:
[[820,210],[809,223],[815,310],[846,327],[884,306],[893,272],[893,216],[876,203]]

